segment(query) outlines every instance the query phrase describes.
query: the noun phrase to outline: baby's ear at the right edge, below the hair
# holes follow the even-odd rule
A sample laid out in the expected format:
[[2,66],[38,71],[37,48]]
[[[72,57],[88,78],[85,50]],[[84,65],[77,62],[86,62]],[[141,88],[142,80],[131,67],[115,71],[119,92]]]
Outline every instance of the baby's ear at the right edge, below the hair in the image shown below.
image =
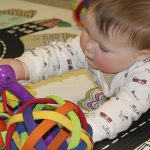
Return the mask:
[[147,58],[150,58],[150,49],[143,49],[137,51],[136,61],[142,61]]

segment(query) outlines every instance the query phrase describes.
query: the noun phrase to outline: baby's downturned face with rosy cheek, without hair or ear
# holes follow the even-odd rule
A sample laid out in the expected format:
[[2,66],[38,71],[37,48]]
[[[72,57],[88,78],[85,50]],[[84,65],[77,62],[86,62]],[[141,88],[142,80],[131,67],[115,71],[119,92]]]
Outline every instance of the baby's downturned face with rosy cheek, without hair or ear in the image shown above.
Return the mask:
[[85,18],[85,30],[81,35],[81,48],[88,64],[105,73],[118,73],[136,62],[137,49],[132,47],[125,35],[111,34],[105,38],[96,26],[92,12]]

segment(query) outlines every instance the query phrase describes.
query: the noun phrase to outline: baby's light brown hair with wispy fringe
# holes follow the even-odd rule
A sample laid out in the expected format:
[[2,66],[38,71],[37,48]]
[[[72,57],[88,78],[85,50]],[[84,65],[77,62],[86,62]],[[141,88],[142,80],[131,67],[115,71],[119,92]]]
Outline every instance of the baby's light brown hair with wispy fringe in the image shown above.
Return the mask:
[[90,9],[100,33],[127,34],[138,49],[150,49],[150,0],[97,0]]

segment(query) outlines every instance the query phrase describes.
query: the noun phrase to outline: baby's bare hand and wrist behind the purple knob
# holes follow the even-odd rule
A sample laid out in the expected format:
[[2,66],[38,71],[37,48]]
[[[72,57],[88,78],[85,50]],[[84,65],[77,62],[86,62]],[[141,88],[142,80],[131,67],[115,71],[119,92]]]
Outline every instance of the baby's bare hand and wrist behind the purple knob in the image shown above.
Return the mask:
[[18,59],[11,59],[11,58],[2,59],[2,58],[0,58],[0,65],[11,66],[15,71],[17,80],[28,80],[29,79],[29,73],[27,71],[25,64]]

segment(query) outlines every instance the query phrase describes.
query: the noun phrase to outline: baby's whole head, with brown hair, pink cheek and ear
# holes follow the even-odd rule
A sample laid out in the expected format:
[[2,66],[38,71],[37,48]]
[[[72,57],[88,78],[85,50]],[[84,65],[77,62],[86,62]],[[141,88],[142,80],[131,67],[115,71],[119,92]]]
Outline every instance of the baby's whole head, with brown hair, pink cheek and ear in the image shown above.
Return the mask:
[[88,63],[118,73],[150,57],[150,0],[100,0],[85,18],[81,47]]

